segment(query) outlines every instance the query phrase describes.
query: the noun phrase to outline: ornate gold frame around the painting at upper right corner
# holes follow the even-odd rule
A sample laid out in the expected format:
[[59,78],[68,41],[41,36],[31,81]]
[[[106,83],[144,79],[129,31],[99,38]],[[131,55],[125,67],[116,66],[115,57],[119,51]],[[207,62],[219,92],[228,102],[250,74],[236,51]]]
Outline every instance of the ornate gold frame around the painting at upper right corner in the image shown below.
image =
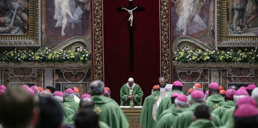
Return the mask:
[[217,0],[217,35],[215,37],[216,47],[256,47],[258,45],[257,36],[227,36],[226,30],[226,0]]

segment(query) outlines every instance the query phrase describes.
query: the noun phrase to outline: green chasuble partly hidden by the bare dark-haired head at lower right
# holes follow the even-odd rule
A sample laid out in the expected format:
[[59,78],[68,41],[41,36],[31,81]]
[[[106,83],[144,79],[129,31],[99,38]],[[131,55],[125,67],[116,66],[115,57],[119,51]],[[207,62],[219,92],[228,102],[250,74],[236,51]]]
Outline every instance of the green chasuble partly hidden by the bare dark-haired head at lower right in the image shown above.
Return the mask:
[[[200,105],[200,103],[194,103],[192,104],[189,108],[188,108],[188,111],[185,111],[181,114],[179,114],[173,125],[171,126],[171,128],[186,128],[188,127],[191,122],[193,122],[193,112],[194,112],[194,109]],[[221,126],[222,123],[220,121],[220,118],[218,117],[218,115],[214,114],[214,113],[211,113],[211,116],[212,116],[212,122],[216,125],[216,126]]]

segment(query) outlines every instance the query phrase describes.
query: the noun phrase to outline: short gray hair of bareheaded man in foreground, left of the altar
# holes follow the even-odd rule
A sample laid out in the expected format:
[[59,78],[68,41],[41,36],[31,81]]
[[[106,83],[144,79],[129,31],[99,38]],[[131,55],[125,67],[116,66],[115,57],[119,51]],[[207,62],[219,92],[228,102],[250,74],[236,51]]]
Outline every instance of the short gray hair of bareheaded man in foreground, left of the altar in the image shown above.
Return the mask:
[[102,81],[93,81],[90,84],[91,95],[102,95],[104,92],[104,83]]

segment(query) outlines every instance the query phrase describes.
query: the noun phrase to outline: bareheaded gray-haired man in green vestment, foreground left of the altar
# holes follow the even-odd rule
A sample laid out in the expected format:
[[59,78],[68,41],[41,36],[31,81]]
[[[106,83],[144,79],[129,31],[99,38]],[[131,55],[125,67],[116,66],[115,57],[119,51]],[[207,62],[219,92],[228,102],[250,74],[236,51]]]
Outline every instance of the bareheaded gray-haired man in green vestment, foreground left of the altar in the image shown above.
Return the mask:
[[93,81],[90,84],[91,99],[95,101],[94,111],[98,114],[99,120],[111,128],[128,128],[129,123],[125,113],[117,103],[104,96],[104,87],[101,81]]

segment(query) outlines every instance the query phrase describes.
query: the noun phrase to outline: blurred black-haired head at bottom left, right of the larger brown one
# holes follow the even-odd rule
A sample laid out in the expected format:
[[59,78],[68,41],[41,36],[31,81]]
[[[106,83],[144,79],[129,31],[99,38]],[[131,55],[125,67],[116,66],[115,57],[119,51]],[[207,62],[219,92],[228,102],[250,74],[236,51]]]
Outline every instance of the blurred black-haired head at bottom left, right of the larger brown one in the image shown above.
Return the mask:
[[41,97],[39,100],[40,122],[37,128],[59,128],[63,120],[63,110],[56,100]]

